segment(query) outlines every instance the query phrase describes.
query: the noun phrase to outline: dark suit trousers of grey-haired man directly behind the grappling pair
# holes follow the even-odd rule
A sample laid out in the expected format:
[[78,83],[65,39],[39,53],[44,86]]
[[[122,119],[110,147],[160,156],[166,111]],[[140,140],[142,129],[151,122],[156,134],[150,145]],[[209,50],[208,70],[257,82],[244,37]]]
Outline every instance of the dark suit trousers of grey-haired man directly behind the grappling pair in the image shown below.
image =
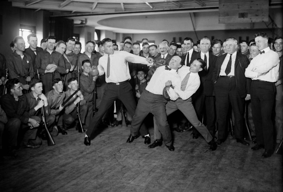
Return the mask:
[[[215,131],[215,96],[205,96],[204,94],[194,97],[195,112],[198,120],[202,121],[203,115],[206,117],[206,125],[210,134]],[[204,108],[205,106],[205,108]],[[196,130],[194,129],[193,133]]]

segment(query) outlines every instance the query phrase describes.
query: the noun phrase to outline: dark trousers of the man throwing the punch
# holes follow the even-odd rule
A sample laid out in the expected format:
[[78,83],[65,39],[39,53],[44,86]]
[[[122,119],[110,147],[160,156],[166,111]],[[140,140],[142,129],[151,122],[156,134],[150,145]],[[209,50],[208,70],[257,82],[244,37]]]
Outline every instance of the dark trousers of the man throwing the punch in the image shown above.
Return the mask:
[[[114,83],[107,83],[99,109],[97,113],[91,119],[91,127],[86,132],[86,135],[93,139],[96,136],[96,129],[106,111],[114,103],[116,99],[120,99],[129,111],[130,115],[133,116],[136,110],[136,101],[134,100],[132,87],[129,82],[123,82],[119,85]],[[147,133],[145,126],[142,126],[144,132]],[[144,134],[143,135],[147,135]]]

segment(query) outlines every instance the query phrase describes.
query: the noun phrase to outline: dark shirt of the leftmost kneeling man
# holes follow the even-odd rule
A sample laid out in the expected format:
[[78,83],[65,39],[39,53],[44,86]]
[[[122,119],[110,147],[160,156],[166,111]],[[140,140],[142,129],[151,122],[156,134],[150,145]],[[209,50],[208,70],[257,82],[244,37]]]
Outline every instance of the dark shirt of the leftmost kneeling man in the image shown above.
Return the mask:
[[22,123],[28,123],[30,115],[26,96],[19,96],[18,101],[16,101],[13,95],[7,93],[1,96],[0,105],[8,119],[18,118]]

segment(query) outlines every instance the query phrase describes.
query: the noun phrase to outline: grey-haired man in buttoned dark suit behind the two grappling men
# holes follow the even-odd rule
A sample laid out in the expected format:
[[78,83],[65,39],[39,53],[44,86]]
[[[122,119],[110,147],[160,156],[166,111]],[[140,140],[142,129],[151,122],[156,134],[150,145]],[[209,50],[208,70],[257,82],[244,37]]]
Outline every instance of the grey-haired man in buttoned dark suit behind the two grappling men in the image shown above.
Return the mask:
[[[200,52],[197,58],[201,58],[205,61],[206,67],[198,74],[200,76],[200,87],[192,96],[194,101],[194,107],[198,120],[202,121],[203,114],[206,114],[207,129],[211,135],[214,135],[215,131],[215,96],[213,93],[212,72],[215,68],[217,56],[209,52],[210,40],[204,37],[200,40]],[[205,110],[203,106],[205,105]],[[197,139],[199,132],[194,129],[192,132],[192,138]]]

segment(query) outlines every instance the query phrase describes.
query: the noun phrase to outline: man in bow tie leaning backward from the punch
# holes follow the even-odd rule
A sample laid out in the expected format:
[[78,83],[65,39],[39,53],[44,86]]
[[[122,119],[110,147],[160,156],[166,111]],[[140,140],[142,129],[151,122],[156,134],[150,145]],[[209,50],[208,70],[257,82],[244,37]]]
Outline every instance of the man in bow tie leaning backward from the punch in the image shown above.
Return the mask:
[[136,107],[135,114],[133,116],[133,121],[131,124],[131,134],[127,142],[131,143],[138,136],[140,126],[144,118],[152,113],[160,126],[160,131],[162,132],[163,140],[165,145],[170,151],[174,151],[175,148],[172,144],[170,127],[167,122],[167,116],[165,111],[165,104],[167,103],[164,99],[162,93],[165,83],[167,81],[172,81],[172,84],[176,86],[180,77],[177,74],[177,69],[181,65],[181,57],[179,55],[173,56],[169,62],[168,66],[160,66],[154,72],[149,84],[145,88],[144,92],[139,99],[139,103]]

